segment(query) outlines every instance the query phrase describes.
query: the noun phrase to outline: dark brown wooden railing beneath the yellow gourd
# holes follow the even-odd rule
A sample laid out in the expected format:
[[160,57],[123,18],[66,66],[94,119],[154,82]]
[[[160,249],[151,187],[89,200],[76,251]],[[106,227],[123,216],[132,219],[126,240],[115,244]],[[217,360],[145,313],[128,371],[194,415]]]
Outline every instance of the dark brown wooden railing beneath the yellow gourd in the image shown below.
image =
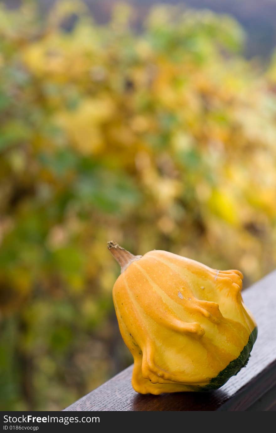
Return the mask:
[[[245,305],[258,325],[257,341],[246,367],[220,389],[209,393],[141,395],[131,385],[132,365],[64,410],[275,410],[276,397],[276,271],[243,291]],[[274,397],[263,398],[265,395]],[[273,402],[274,399],[274,402]],[[267,401],[267,403],[266,403]]]

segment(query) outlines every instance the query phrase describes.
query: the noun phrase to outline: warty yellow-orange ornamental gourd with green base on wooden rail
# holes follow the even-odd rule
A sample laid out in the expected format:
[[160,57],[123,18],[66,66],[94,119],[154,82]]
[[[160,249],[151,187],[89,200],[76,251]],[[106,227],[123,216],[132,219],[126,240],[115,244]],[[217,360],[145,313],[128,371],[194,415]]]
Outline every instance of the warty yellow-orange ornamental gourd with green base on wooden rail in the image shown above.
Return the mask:
[[113,241],[108,248],[122,268],[113,301],[135,391],[212,390],[246,365],[257,326],[243,304],[240,271],[167,251],[135,256]]

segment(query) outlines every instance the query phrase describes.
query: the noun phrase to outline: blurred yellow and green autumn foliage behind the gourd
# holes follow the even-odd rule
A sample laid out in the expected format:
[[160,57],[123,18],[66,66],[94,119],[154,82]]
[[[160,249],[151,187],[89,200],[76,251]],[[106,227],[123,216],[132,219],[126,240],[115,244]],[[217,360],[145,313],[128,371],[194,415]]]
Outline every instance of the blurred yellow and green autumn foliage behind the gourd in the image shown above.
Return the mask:
[[276,55],[230,16],[0,6],[0,405],[61,410],[131,363],[114,239],[245,285],[276,265]]

